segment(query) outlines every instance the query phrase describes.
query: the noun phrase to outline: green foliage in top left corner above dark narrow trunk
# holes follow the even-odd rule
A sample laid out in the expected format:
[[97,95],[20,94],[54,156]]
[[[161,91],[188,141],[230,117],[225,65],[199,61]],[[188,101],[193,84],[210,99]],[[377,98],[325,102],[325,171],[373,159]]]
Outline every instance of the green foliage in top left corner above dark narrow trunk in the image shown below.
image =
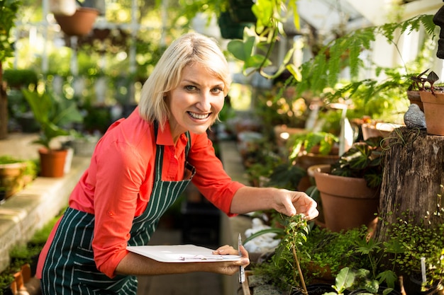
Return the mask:
[[11,29],[15,26],[20,5],[18,0],[0,0],[0,63],[13,54]]

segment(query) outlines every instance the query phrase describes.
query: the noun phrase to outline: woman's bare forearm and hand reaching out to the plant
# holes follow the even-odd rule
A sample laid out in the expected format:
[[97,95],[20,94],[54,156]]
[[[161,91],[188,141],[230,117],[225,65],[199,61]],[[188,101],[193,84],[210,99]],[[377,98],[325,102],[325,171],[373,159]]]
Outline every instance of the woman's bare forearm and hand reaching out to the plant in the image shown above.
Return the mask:
[[231,201],[231,212],[248,212],[275,209],[277,212],[293,216],[304,214],[307,219],[318,216],[316,202],[305,192],[278,189],[274,187],[240,187]]

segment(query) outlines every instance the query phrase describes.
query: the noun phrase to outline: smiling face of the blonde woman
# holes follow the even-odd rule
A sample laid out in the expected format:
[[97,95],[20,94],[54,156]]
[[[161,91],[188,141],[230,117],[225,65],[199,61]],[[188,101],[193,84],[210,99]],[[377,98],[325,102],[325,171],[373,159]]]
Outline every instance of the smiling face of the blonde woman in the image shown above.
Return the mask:
[[199,64],[185,66],[179,85],[167,93],[174,142],[187,132],[202,134],[223,108],[223,81]]

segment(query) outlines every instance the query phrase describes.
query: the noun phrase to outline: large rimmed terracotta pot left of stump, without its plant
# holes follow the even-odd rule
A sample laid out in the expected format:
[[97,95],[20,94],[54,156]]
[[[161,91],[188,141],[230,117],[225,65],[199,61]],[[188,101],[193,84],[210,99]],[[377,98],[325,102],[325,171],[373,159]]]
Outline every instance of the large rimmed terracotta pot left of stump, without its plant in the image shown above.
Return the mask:
[[310,167],[321,193],[323,216],[327,229],[348,230],[366,225],[374,231],[377,224],[380,190],[367,187],[363,178],[328,174],[329,165]]

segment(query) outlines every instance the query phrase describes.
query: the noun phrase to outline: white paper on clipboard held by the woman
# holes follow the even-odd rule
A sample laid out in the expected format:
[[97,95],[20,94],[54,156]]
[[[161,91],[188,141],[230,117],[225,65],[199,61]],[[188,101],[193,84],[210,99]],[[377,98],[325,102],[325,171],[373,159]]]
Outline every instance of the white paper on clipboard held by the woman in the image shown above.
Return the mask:
[[240,260],[239,255],[214,255],[213,250],[197,245],[128,246],[128,251],[160,262],[221,262]]

